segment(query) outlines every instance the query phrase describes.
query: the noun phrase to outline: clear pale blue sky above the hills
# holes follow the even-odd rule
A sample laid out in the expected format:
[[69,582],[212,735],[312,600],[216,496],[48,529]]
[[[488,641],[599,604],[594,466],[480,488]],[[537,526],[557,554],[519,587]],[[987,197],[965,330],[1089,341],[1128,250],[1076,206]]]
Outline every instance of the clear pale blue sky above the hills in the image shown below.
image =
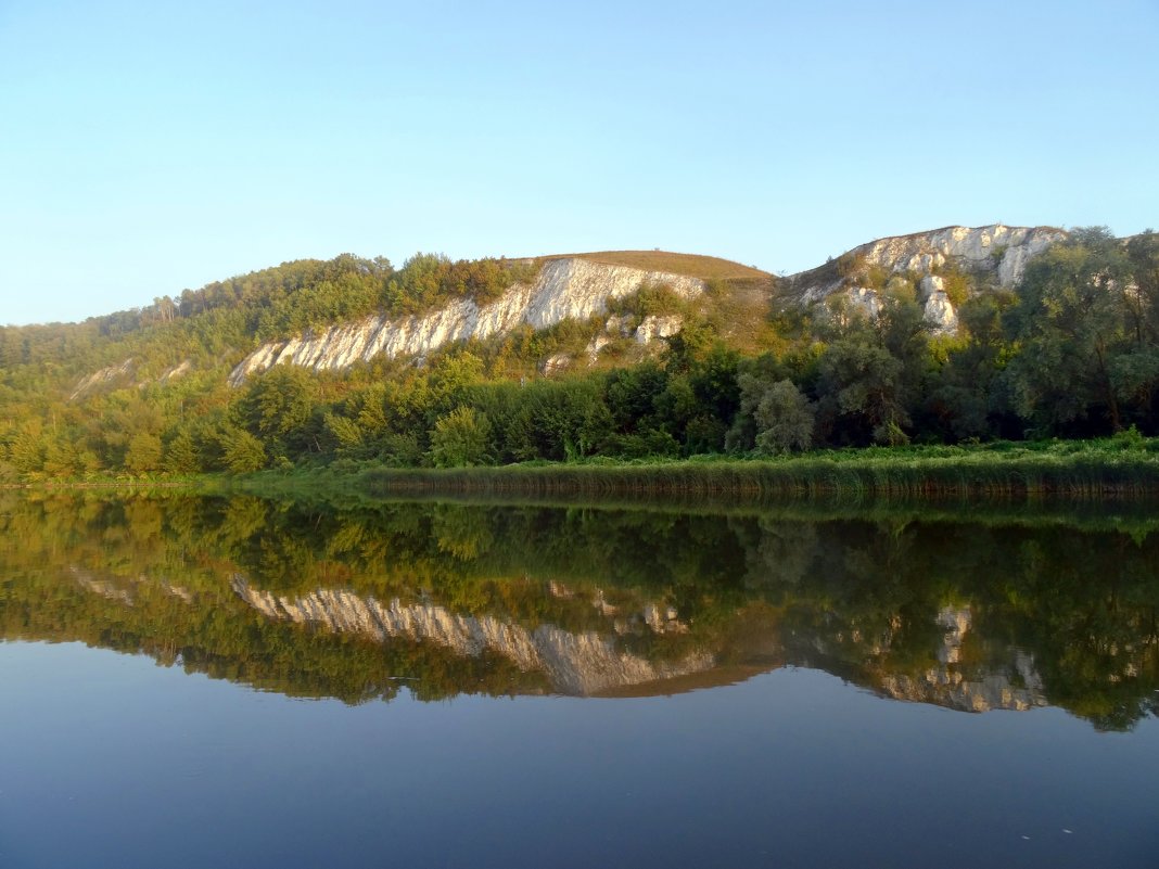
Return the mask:
[[0,0],[0,323],[343,251],[1130,234],[1157,46],[1157,0]]

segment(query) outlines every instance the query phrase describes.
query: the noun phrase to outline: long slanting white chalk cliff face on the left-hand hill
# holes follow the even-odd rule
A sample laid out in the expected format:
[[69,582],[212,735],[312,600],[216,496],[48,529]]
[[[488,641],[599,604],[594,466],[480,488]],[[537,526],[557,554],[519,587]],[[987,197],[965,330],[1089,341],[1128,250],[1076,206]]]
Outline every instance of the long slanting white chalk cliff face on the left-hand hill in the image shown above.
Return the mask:
[[641,284],[664,284],[676,295],[691,299],[704,292],[698,278],[607,265],[580,257],[551,260],[532,284],[516,284],[500,299],[483,306],[459,299],[428,314],[399,319],[369,316],[264,344],[229,374],[240,386],[248,377],[274,365],[301,365],[314,371],[341,371],[377,356],[425,356],[455,341],[489,338],[520,323],[544,329],[567,319],[586,320],[606,311],[610,299],[630,295]]

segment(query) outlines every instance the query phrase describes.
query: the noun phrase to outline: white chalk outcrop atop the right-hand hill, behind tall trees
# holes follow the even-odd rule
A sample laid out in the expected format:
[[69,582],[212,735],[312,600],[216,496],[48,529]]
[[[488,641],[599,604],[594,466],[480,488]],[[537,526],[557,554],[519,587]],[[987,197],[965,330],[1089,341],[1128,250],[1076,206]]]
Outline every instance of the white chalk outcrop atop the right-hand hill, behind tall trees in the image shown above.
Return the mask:
[[[892,275],[917,275],[919,301],[935,333],[957,331],[957,312],[946,294],[945,282],[932,272],[953,263],[963,270],[987,276],[990,284],[1008,289],[1022,279],[1026,264],[1051,244],[1066,239],[1050,227],[949,226],[927,233],[879,239],[853,248],[846,256],[861,268],[877,266]],[[788,292],[801,305],[815,305],[837,293],[870,316],[881,308],[875,290],[858,286],[857,276],[843,277],[831,266],[810,269],[785,279]]]

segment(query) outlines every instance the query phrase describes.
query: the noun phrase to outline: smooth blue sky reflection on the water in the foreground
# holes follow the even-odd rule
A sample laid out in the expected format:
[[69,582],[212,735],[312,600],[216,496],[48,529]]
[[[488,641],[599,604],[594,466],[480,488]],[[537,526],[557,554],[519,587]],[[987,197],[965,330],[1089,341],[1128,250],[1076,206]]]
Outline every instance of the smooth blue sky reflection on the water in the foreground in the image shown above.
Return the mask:
[[2,643],[0,692],[6,867],[1125,869],[1159,847],[1159,722],[961,715],[816,671],[349,707]]

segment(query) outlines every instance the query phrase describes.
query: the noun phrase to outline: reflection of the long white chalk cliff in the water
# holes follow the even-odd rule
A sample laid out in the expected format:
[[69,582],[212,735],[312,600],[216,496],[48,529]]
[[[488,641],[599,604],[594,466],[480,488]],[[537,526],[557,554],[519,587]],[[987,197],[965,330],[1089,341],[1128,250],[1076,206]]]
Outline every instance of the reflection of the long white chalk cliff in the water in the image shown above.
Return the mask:
[[[384,642],[406,638],[432,642],[462,657],[484,650],[512,660],[524,672],[539,671],[563,694],[595,694],[642,682],[709,670],[714,657],[694,651],[672,662],[650,662],[617,648],[595,633],[571,634],[552,625],[527,630],[489,615],[452,613],[433,604],[382,603],[349,591],[319,589],[305,596],[277,597],[234,576],[233,590],[271,619],[322,625],[337,633]],[[655,616],[651,616],[655,619]]]

